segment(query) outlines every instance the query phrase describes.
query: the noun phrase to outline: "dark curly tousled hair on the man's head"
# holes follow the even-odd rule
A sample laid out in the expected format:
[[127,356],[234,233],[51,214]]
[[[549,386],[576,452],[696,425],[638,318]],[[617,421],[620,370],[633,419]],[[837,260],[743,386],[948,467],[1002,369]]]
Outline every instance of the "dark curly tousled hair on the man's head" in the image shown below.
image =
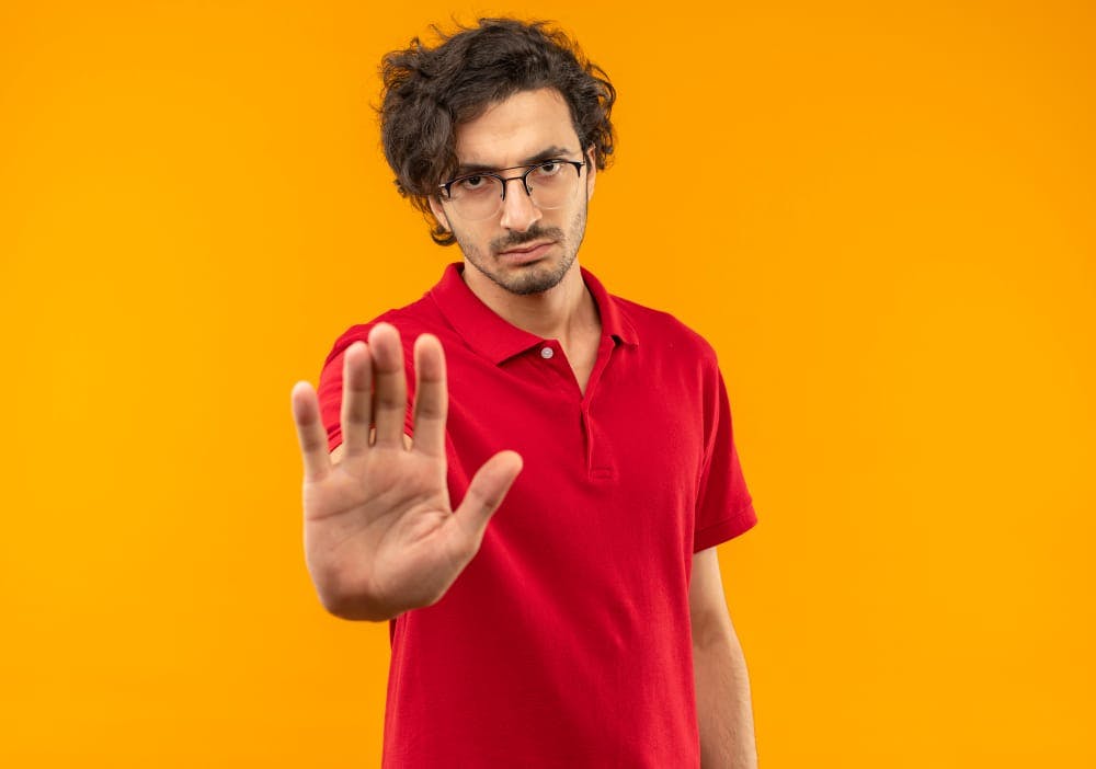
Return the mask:
[[439,245],[456,242],[430,209],[430,196],[455,173],[456,128],[518,91],[553,88],[571,111],[582,151],[594,149],[598,169],[608,165],[614,131],[609,120],[616,90],[597,65],[550,22],[480,19],[446,34],[431,27],[438,44],[418,37],[381,60],[380,136],[400,194],[410,197]]

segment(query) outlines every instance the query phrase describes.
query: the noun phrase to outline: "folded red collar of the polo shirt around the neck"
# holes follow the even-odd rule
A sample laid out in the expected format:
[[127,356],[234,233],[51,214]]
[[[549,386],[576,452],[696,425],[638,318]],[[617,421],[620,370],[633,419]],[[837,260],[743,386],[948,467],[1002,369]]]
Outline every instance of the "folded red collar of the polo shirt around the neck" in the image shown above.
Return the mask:
[[[510,324],[480,301],[461,278],[464,268],[461,262],[448,265],[442,279],[430,289],[429,296],[470,347],[498,365],[530,347],[544,344],[545,340]],[[636,326],[621,312],[617,300],[609,296],[593,274],[581,266],[579,269],[597,305],[602,336],[612,336],[618,344],[639,344]]]

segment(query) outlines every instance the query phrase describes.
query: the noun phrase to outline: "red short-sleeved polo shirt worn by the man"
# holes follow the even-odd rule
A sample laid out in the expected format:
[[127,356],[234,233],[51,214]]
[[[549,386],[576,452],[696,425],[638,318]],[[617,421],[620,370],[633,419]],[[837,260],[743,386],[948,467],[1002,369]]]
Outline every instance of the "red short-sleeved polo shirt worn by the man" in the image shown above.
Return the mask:
[[[525,467],[448,593],[392,620],[384,766],[698,766],[693,553],[756,521],[716,355],[582,271],[602,321],[583,394],[559,343],[489,310],[461,269],[374,323],[400,330],[409,372],[415,336],[442,341],[454,507],[496,451]],[[331,448],[342,352],[370,325],[320,377]]]

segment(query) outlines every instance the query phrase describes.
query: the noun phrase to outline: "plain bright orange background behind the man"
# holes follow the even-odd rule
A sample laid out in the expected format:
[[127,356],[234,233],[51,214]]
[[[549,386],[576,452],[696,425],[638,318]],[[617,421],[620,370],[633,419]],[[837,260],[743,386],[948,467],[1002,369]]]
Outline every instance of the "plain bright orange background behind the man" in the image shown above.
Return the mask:
[[509,11],[620,93],[583,264],[720,354],[762,765],[1096,766],[1093,7],[672,8],[0,7],[0,764],[377,764],[289,388],[458,257],[380,56]]

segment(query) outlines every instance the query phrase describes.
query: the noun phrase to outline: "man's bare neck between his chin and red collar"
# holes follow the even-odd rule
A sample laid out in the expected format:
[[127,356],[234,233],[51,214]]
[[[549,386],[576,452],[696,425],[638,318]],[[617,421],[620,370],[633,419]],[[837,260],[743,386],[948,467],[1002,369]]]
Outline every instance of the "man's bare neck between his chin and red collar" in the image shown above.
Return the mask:
[[566,346],[583,331],[601,329],[597,306],[582,282],[578,260],[559,284],[540,294],[507,291],[467,262],[463,275],[480,301],[511,325],[530,334],[559,340]]

